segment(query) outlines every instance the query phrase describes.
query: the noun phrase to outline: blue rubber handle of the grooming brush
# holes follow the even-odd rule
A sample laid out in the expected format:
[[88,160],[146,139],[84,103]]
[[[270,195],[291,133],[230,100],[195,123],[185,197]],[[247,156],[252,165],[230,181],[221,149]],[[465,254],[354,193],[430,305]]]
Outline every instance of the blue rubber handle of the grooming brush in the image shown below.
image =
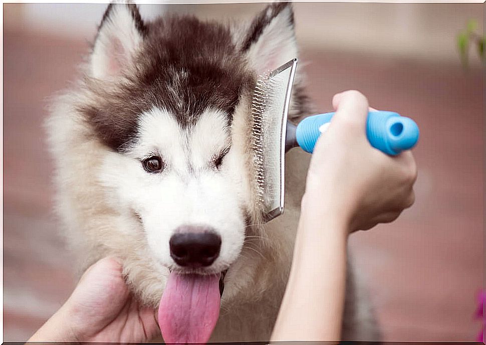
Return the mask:
[[[306,117],[296,129],[296,139],[300,147],[312,153],[317,139],[321,135],[319,128],[331,121],[334,113]],[[410,118],[392,111],[370,111],[366,123],[366,135],[371,146],[380,151],[397,155],[403,150],[415,146],[419,130]]]

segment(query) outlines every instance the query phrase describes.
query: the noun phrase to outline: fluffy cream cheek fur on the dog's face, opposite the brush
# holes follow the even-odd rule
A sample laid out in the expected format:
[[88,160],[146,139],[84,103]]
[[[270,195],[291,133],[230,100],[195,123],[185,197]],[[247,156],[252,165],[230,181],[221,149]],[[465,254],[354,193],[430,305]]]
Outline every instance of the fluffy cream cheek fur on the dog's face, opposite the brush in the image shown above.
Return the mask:
[[58,97],[46,122],[49,146],[56,158],[55,204],[64,223],[63,234],[75,254],[79,275],[104,256],[119,256],[125,261],[125,272],[130,272],[128,280],[134,291],[145,303],[155,305],[157,294],[152,292],[158,289],[161,293],[163,277],[144,277],[143,272],[153,270],[154,265],[150,256],[144,255],[146,245],[137,232],[139,224],[129,215],[115,211],[99,184],[103,162],[112,152],[90,135],[89,126],[79,120],[75,104],[83,100],[86,101],[86,94],[82,92]]

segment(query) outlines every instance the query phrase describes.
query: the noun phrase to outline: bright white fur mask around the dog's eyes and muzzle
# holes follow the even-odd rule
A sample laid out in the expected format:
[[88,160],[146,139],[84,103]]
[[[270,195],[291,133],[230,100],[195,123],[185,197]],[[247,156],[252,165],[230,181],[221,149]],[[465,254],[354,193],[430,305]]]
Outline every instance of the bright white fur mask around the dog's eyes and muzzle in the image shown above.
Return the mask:
[[[140,216],[154,265],[177,270],[168,243],[174,230],[187,224],[208,226],[221,236],[219,256],[211,265],[216,273],[241,250],[245,223],[237,210],[248,200],[239,183],[241,160],[229,150],[220,170],[208,168],[229,145],[224,123],[220,111],[207,109],[194,127],[184,130],[166,110],[153,109],[142,115],[139,140],[126,155],[107,152],[103,157],[99,181],[107,200],[114,201],[113,209],[127,210],[128,218],[130,210]],[[163,174],[147,174],[140,164],[153,152],[163,156]]]

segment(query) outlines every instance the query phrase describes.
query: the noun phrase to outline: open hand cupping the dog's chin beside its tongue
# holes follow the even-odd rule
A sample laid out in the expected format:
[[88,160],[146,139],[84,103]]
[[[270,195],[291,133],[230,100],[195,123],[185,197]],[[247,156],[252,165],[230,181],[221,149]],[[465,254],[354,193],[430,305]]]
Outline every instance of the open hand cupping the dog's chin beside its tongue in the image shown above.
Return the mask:
[[101,259],[81,277],[66,303],[29,341],[147,342],[160,334],[156,310],[139,304],[116,258]]

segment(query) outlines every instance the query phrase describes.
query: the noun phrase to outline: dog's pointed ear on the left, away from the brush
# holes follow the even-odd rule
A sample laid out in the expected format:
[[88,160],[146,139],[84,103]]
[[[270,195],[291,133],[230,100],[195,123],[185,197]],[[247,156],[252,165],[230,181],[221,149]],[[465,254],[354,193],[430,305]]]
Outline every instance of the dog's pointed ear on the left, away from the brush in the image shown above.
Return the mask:
[[136,5],[108,5],[90,57],[91,76],[106,79],[120,75],[132,61],[145,33]]

